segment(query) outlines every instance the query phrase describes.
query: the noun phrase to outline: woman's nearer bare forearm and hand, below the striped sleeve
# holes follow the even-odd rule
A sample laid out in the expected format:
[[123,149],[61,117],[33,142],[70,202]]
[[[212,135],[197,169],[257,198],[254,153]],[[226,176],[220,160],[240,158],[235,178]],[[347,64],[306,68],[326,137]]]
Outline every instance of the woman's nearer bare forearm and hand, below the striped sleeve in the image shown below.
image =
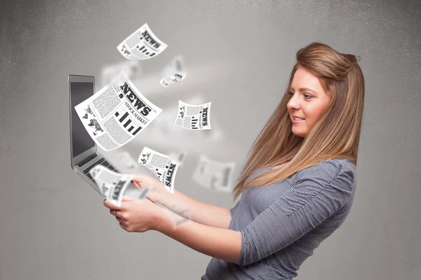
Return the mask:
[[[104,200],[110,214],[116,217],[123,230],[146,232],[156,230],[190,248],[215,258],[236,262],[241,252],[241,233],[213,228],[185,220],[178,214],[158,207],[150,200],[131,200],[122,197],[121,205]],[[183,220],[183,223],[177,221]]]

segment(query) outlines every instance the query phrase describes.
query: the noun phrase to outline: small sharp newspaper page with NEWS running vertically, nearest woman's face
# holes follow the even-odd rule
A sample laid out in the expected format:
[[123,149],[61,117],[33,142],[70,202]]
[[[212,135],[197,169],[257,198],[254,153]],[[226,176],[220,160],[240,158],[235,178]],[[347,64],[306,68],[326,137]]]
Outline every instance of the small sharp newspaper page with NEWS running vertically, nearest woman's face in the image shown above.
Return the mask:
[[189,105],[178,100],[175,124],[189,130],[210,130],[210,104]]

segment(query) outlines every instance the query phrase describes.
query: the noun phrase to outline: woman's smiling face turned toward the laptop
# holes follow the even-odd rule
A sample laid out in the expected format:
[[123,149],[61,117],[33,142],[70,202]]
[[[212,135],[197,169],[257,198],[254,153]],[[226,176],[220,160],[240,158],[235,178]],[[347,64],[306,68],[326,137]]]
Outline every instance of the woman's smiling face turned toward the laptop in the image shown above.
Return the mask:
[[[330,97],[323,90],[319,78],[303,67],[295,71],[288,94],[290,100],[287,108],[293,122],[293,134],[307,137],[313,125],[319,120],[323,109],[328,105]],[[304,120],[296,121],[293,116]]]

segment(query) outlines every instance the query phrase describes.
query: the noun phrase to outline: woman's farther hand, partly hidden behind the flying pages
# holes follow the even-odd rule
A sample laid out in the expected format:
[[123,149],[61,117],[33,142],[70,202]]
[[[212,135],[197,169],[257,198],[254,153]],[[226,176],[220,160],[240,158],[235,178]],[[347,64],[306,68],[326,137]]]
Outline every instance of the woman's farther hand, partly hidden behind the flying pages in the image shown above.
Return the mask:
[[162,183],[152,176],[145,174],[135,174],[132,179],[133,184],[140,189],[149,188],[149,191],[146,193],[147,198],[152,202],[163,204],[163,198],[166,197],[170,192],[162,186]]

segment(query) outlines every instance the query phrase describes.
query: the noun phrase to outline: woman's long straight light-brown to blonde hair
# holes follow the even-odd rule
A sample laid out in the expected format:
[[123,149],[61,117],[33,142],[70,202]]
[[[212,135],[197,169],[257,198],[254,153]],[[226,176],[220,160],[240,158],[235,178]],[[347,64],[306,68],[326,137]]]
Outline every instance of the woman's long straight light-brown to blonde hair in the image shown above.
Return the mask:
[[[248,152],[233,190],[234,200],[246,188],[283,181],[323,160],[345,158],[356,165],[364,106],[364,77],[356,56],[314,42],[298,50],[296,57],[297,63],[281,102]],[[330,97],[328,106],[305,138],[293,134],[286,107],[288,88],[299,67],[319,77]],[[282,169],[270,170],[246,183],[248,176],[258,169],[286,162]]]

